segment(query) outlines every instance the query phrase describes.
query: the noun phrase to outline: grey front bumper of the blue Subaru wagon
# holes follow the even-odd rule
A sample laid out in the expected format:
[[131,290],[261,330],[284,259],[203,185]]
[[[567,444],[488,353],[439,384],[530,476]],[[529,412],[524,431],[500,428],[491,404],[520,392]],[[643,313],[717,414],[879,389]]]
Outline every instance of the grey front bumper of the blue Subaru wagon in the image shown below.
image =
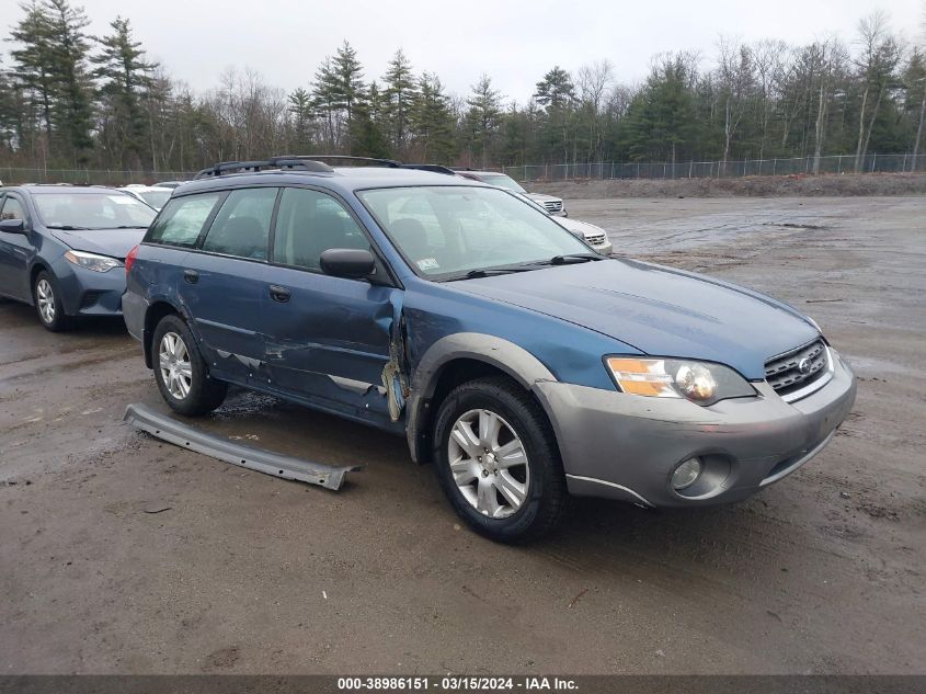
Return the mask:
[[[556,382],[535,389],[553,423],[570,492],[651,507],[725,503],[790,475],[833,437],[855,402],[856,379],[831,352],[830,383],[791,403],[765,383],[753,384],[759,397],[707,408]],[[704,487],[678,493],[672,473],[695,456],[706,465]]]

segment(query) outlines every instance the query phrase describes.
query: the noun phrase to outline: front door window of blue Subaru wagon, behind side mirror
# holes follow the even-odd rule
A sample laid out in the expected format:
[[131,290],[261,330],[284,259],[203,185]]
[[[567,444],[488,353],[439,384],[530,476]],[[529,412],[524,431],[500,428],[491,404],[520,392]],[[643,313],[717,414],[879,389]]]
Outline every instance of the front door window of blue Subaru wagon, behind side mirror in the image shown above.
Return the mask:
[[331,248],[370,250],[361,227],[331,195],[284,189],[276,215],[274,262],[318,271],[321,254]]

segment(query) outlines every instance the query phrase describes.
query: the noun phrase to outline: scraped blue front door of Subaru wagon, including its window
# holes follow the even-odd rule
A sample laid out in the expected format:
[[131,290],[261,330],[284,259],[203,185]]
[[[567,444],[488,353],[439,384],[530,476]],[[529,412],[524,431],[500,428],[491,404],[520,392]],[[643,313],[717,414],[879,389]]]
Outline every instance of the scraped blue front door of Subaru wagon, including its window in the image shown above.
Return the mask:
[[262,323],[274,389],[321,409],[389,426],[384,369],[402,292],[321,271],[332,248],[371,250],[334,196],[285,187],[273,232]]

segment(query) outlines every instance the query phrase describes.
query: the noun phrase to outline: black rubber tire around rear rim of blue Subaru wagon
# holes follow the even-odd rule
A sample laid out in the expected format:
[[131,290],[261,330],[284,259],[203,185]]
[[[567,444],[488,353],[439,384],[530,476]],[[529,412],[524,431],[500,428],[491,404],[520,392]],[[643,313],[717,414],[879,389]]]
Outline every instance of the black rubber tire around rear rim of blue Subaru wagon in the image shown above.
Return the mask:
[[[164,335],[168,334],[175,335],[181,341],[190,363],[190,383],[185,395],[182,397],[171,391],[171,387],[176,390],[179,386],[175,382],[169,385],[164,380],[165,377],[160,365],[161,343]],[[203,361],[199,350],[196,348],[196,340],[180,316],[164,316],[155,328],[155,334],[151,338],[151,363],[161,397],[175,412],[187,417],[206,414],[225,400],[228,384],[209,377],[206,362]],[[186,382],[184,380],[184,383]]]

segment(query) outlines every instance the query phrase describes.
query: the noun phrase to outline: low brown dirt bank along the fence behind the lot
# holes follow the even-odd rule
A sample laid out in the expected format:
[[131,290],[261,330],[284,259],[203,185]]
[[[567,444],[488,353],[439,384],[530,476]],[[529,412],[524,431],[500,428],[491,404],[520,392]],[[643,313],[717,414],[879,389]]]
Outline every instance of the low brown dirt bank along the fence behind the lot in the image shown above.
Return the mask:
[[[613,197],[818,197],[854,195],[924,195],[924,173],[862,173],[828,175],[750,175],[732,179],[580,180],[525,183],[533,193],[567,201]],[[578,208],[576,208],[578,209]]]

